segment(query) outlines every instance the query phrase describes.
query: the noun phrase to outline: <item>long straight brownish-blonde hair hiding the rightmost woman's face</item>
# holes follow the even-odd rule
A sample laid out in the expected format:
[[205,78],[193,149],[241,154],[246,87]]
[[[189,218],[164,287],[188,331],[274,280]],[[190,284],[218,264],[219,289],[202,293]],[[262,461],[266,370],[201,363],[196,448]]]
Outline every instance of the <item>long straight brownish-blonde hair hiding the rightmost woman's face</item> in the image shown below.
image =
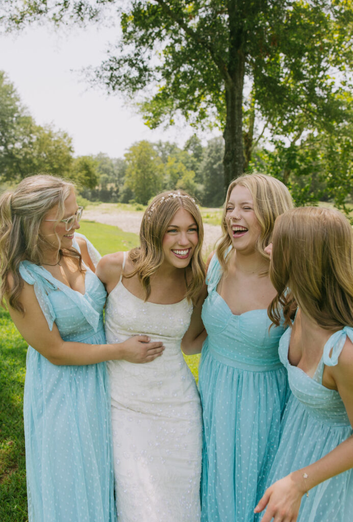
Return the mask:
[[281,309],[291,325],[298,304],[321,328],[353,326],[353,231],[338,210],[302,207],[277,218],[269,274],[276,325]]

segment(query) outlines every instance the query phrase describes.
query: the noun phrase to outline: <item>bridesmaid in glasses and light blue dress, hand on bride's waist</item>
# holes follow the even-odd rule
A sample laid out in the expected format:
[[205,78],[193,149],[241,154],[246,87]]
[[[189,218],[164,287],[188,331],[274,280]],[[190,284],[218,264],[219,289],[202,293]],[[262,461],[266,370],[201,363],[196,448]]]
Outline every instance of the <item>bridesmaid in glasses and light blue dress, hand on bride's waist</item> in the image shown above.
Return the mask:
[[52,176],[28,177],[0,198],[0,298],[30,345],[23,408],[30,522],[115,522],[103,361],[143,362],[161,352],[161,343],[142,337],[105,344],[106,292],[72,248],[80,216],[73,185]]

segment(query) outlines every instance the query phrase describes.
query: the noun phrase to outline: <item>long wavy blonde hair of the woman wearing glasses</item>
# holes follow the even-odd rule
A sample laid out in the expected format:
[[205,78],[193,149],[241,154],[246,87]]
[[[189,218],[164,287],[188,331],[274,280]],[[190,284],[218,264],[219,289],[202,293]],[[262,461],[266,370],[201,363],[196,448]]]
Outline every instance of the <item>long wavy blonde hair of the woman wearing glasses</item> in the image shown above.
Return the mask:
[[[4,296],[9,304],[23,312],[19,295],[23,281],[19,275],[19,264],[27,259],[40,265],[46,241],[40,235],[39,228],[45,214],[58,205],[57,221],[64,217],[64,201],[74,191],[74,185],[59,177],[45,174],[26,177],[13,191],[7,191],[0,197],[0,303],[4,306]],[[74,250],[60,250],[62,255],[81,256]],[[14,284],[9,287],[8,275]]]

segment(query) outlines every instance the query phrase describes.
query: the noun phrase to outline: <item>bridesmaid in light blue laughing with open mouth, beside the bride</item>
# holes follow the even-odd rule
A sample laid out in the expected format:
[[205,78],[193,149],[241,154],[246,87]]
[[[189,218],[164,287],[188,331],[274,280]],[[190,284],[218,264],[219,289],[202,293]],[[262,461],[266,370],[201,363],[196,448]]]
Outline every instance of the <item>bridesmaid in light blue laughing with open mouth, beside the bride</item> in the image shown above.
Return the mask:
[[[288,397],[278,358],[284,328],[269,329],[267,306],[276,291],[263,248],[276,217],[291,207],[288,189],[269,176],[242,176],[228,189],[224,236],[210,259],[202,307],[203,522],[253,522],[278,447]],[[185,353],[199,351],[205,336],[197,336],[200,303]]]

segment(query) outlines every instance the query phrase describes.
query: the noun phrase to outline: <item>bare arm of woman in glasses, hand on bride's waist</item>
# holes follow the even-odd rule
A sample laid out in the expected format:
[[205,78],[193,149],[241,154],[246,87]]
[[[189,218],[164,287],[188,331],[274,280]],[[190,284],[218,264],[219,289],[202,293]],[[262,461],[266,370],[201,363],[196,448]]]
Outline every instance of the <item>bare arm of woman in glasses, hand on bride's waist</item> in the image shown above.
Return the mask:
[[135,336],[108,345],[63,341],[55,323],[53,329],[49,329],[31,284],[23,283],[20,302],[25,308],[24,314],[8,304],[13,322],[29,345],[53,364],[95,364],[113,359],[143,363],[153,361],[164,349],[161,342],[149,342],[147,336]]

